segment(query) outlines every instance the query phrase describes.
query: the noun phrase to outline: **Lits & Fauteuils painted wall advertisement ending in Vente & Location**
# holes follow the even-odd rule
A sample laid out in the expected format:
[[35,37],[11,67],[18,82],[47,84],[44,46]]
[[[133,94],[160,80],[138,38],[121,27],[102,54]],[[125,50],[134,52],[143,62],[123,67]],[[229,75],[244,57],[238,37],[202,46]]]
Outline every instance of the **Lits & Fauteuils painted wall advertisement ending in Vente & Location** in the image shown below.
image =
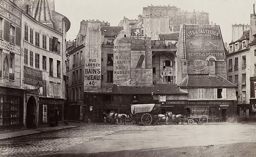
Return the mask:
[[225,59],[219,26],[186,26],[187,59]]

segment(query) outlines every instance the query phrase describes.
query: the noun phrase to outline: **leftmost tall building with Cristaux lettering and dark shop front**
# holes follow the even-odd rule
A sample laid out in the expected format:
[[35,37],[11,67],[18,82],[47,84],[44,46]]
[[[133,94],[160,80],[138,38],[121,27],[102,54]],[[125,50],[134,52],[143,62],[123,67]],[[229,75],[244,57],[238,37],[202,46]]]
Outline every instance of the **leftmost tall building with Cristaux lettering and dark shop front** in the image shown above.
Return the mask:
[[1,0],[0,9],[0,131],[9,131],[25,123],[22,10],[9,0]]

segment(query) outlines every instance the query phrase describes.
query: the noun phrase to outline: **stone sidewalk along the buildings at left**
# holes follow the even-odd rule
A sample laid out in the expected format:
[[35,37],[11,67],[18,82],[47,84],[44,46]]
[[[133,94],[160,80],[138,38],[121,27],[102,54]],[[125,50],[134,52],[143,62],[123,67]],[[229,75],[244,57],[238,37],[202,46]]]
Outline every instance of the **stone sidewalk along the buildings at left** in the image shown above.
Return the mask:
[[48,132],[54,132],[58,130],[64,130],[68,128],[76,128],[79,126],[55,126],[55,127],[44,127],[44,128],[35,128],[35,129],[26,129],[23,131],[15,131],[15,132],[8,132],[4,134],[0,134],[0,141],[1,140],[6,140],[14,137],[23,137],[27,135],[32,135],[32,134],[42,134],[42,133],[48,133]]

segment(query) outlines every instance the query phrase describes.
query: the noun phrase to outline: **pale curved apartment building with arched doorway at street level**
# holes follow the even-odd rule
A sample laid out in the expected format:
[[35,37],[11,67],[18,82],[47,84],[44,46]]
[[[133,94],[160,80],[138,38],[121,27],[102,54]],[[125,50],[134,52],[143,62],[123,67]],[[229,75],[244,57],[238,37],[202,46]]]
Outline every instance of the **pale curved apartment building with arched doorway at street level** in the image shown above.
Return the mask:
[[[26,128],[49,125],[50,114],[56,117],[58,114],[58,121],[64,121],[66,32],[70,21],[54,10],[54,0],[12,1],[24,10],[21,23],[23,122]],[[40,89],[33,91],[38,85]]]

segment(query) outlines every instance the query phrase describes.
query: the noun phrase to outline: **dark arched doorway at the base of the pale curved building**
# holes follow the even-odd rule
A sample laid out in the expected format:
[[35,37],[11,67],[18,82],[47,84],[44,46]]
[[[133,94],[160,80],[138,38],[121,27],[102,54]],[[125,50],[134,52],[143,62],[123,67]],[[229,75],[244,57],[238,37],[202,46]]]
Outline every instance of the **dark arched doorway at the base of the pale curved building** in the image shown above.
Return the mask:
[[36,100],[35,97],[30,96],[26,104],[26,128],[35,127],[35,111],[36,111]]

